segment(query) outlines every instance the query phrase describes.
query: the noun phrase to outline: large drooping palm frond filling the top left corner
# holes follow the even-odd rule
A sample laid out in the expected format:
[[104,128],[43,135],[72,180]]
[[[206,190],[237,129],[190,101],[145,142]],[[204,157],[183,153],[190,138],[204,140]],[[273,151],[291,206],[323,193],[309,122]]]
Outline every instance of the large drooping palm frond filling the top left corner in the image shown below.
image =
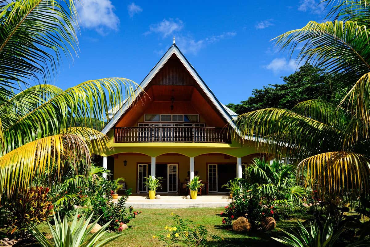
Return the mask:
[[0,88],[9,96],[11,88],[20,89],[18,83],[51,78],[61,55],[71,56],[77,49],[78,25],[73,0],[2,2]]

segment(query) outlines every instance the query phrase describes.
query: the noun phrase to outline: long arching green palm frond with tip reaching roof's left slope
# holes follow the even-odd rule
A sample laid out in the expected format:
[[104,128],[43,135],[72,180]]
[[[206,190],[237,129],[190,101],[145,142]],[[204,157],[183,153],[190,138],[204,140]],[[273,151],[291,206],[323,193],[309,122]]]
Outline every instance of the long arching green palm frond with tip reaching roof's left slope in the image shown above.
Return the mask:
[[[61,129],[75,126],[75,122],[90,127],[91,118],[107,119],[109,108],[119,104],[123,98],[132,99],[134,85],[128,79],[107,78],[85,81],[63,91],[4,128],[5,151],[36,138],[58,134]],[[67,126],[68,121],[70,126]]]

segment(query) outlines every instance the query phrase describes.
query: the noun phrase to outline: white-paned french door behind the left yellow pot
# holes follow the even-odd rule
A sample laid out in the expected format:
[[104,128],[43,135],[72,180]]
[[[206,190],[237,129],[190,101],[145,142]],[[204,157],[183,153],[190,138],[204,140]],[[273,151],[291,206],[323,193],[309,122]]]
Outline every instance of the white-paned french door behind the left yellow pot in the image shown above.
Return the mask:
[[[158,192],[176,193],[178,188],[178,164],[156,164],[155,175],[163,177],[162,189]],[[138,190],[148,192],[144,185],[145,178],[150,176],[151,164],[138,164]]]

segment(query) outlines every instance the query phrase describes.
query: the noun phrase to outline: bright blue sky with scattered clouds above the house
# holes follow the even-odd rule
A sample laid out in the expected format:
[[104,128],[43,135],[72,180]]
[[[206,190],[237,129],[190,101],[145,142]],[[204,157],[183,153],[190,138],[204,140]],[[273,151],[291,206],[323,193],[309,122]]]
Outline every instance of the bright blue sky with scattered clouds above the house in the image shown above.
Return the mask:
[[295,60],[270,39],[309,20],[322,21],[324,6],[318,3],[84,0],[78,7],[80,52],[64,60],[55,85],[67,89],[105,77],[140,83],[175,35],[218,99],[239,103],[296,70]]

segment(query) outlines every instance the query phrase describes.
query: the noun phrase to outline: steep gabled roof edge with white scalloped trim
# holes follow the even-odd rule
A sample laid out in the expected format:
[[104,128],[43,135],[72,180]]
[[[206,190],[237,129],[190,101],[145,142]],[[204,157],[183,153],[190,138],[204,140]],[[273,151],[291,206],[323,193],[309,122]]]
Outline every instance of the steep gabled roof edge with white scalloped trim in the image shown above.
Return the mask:
[[[115,109],[111,109],[108,114],[112,114],[111,120],[108,122],[108,124],[104,127],[104,129],[101,131],[103,134],[107,134],[108,131],[111,130],[111,128],[114,127],[114,124],[117,123],[118,120],[122,117],[122,115],[127,111],[127,109],[131,106],[131,104],[136,100],[136,98],[139,96],[139,94],[145,90],[145,87],[148,86],[150,81],[154,78],[154,76],[158,73],[159,70],[164,66],[164,64],[168,61],[168,59],[175,54],[178,59],[181,61],[181,63],[185,66],[186,70],[189,71],[191,76],[195,79],[196,83],[201,87],[201,89],[205,92],[205,94],[209,97],[209,99],[212,101],[212,103],[216,106],[218,111],[221,113],[223,118],[231,124],[231,126],[236,130],[236,126],[233,122],[233,118],[238,116],[235,112],[230,110],[225,105],[221,104],[220,101],[216,98],[215,94],[213,94],[212,90],[209,89],[209,87],[206,85],[206,83],[203,81],[203,79],[199,76],[198,72],[194,69],[194,67],[189,63],[189,61],[186,59],[184,54],[179,50],[179,48],[176,46],[176,44],[173,44],[169,49],[166,51],[164,56],[158,61],[158,63],[153,67],[153,69],[149,72],[149,74],[142,80],[139,87],[135,90],[135,95],[132,97],[129,101],[124,100],[118,105],[118,107],[115,107]],[[119,108],[119,109],[118,109]]]

